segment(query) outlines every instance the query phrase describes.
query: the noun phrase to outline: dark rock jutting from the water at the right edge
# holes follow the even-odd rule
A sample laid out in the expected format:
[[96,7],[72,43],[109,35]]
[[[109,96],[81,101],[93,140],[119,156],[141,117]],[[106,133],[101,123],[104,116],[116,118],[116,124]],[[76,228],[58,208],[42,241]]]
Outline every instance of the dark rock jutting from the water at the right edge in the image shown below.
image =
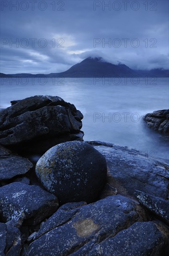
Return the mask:
[[144,115],[147,126],[163,135],[169,135],[169,109],[157,110]]

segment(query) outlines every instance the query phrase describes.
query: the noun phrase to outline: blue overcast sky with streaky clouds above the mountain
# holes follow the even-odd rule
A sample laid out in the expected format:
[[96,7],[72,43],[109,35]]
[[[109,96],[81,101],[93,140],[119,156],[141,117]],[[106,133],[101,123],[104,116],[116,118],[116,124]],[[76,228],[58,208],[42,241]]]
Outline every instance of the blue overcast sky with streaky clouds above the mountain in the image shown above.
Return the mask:
[[63,72],[102,57],[169,68],[168,0],[0,0],[0,72]]

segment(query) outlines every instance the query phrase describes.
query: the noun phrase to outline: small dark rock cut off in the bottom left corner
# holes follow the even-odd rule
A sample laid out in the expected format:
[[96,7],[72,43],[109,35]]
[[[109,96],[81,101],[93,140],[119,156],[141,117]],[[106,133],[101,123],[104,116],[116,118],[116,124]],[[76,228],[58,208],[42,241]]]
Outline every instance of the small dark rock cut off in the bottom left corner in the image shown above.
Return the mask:
[[19,256],[21,251],[21,236],[12,223],[0,223],[0,256]]

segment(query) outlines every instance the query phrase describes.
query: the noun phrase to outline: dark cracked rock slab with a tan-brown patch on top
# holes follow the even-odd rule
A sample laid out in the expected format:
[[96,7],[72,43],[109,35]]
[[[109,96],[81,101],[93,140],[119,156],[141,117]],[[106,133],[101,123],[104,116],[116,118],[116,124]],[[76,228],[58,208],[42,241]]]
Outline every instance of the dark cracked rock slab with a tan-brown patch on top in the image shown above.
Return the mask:
[[88,255],[107,237],[116,236],[134,222],[146,220],[144,210],[121,195],[77,206],[68,204],[59,208],[38,231],[27,255]]

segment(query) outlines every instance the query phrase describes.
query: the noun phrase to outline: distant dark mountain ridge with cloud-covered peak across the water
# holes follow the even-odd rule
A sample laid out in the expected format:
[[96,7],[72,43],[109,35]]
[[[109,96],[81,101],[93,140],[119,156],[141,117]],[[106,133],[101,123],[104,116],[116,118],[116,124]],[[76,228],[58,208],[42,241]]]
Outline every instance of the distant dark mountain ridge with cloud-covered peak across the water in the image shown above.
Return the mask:
[[70,67],[67,71],[50,74],[3,74],[0,77],[169,77],[169,70],[160,68],[151,70],[133,70],[125,64],[114,65],[101,57],[88,57]]

